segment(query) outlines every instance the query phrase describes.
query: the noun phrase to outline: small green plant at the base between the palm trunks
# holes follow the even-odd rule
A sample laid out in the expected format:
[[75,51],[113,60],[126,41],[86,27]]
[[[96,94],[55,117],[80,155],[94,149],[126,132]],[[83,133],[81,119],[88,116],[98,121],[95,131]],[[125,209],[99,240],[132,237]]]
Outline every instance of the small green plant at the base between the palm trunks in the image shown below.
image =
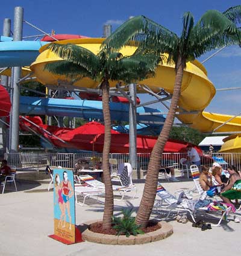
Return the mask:
[[123,209],[123,217],[112,217],[113,228],[117,231],[116,235],[126,235],[130,237],[130,235],[145,234],[142,229],[140,229],[140,225],[136,225],[136,218],[131,217],[132,213],[132,209]]

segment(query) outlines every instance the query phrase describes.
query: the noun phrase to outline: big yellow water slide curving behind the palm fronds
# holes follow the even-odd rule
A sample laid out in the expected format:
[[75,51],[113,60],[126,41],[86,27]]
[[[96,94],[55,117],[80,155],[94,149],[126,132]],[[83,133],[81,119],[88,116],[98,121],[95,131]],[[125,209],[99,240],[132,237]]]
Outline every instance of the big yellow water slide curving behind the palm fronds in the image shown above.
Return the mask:
[[[75,45],[82,46],[93,53],[98,54],[103,40],[104,39],[99,38],[71,39],[58,41],[57,43],[74,43]],[[122,48],[121,53],[124,54],[124,56],[131,55],[134,53],[135,49],[136,48],[134,47],[128,46]],[[48,50],[45,45],[40,48],[40,54],[36,61],[31,64],[30,69],[34,72],[34,75],[36,75],[37,80],[45,85],[57,86],[59,83],[67,83],[85,88],[97,88],[99,85],[99,82],[95,82],[90,78],[83,78],[77,82],[73,82],[69,78],[51,74],[48,71],[43,70],[46,63],[56,61],[61,61],[60,57]],[[174,90],[174,79],[174,65],[163,63],[158,66],[154,78],[148,78],[140,83],[148,85],[154,92],[158,92],[159,88],[164,88],[167,92],[172,94]],[[116,86],[116,82],[111,82],[110,86]],[[214,97],[215,92],[216,90],[213,84],[208,80],[207,71],[204,66],[197,60],[187,62],[178,105],[180,107],[180,112],[185,110],[187,112],[195,112],[195,114],[181,114],[178,115],[178,119],[201,132],[212,132],[224,123],[223,126],[216,129],[216,132],[241,131],[241,117],[232,119],[232,116],[230,115],[203,112],[205,107],[208,106],[211,99]],[[144,93],[144,91],[139,91],[139,93]]]

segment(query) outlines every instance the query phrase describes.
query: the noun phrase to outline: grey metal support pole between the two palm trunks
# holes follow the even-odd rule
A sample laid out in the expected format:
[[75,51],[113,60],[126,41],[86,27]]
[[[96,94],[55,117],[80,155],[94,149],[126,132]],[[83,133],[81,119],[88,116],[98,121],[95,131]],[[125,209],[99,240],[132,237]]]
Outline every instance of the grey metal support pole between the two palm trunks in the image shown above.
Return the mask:
[[129,153],[131,166],[133,170],[136,170],[136,85],[134,85],[134,83],[129,85],[129,91],[131,97],[129,109]]

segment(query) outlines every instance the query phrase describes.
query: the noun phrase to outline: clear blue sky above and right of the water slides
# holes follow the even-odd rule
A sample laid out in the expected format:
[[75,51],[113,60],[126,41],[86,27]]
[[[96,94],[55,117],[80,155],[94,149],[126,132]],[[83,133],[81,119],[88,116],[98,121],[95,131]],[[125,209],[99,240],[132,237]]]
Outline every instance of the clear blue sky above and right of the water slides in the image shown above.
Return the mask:
[[[24,19],[48,33],[54,29],[57,34],[101,37],[104,24],[111,24],[114,30],[130,16],[143,14],[180,35],[182,16],[185,11],[191,11],[195,20],[198,21],[206,10],[224,11],[238,4],[241,4],[240,0],[9,0],[1,6],[0,18],[1,21],[4,18],[13,20],[14,7],[21,6],[24,8]],[[23,36],[38,33],[28,25],[23,27]],[[202,61],[210,55],[211,53],[205,54],[199,60]],[[208,60],[204,66],[208,71],[208,78],[216,89],[220,89],[241,87],[240,63],[241,48],[232,46]],[[216,92],[206,110],[222,114],[238,114],[241,112],[240,94],[240,90]]]

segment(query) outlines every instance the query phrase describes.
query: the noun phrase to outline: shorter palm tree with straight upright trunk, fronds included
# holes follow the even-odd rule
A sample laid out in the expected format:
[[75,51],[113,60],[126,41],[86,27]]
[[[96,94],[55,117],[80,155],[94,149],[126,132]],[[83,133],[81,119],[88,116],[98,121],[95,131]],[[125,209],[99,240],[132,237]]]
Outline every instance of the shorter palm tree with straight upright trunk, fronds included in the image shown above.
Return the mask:
[[48,48],[63,60],[46,64],[45,69],[47,71],[66,75],[73,82],[83,77],[89,77],[100,82],[105,124],[102,153],[103,179],[105,183],[103,228],[108,229],[111,227],[111,218],[113,216],[113,190],[109,170],[111,143],[109,81],[122,80],[127,83],[133,83],[136,80],[152,77],[155,74],[155,67],[161,59],[160,56],[151,53],[145,56],[134,53],[132,56],[124,57],[121,53],[113,53],[110,48],[101,50],[96,56],[86,48],[69,43],[66,45],[51,43]]

